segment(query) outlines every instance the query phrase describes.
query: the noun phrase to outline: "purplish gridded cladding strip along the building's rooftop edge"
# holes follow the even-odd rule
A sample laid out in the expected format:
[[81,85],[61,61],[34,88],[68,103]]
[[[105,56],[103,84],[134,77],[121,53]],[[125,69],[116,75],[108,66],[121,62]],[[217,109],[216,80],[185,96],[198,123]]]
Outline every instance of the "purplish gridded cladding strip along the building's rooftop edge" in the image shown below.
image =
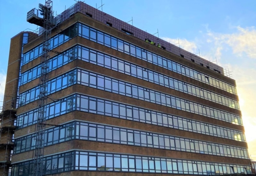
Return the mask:
[[[166,48],[166,51],[169,51],[170,53],[173,53],[178,56],[184,57],[184,59],[187,59],[188,61],[193,61],[194,63],[204,66],[206,68],[210,68],[210,70],[218,71],[221,74],[224,75],[224,69],[221,66],[218,66],[206,59],[203,59],[202,57],[199,57],[198,55],[195,55],[193,53],[190,53],[176,45],[173,45],[167,41],[164,41],[150,33],[147,33],[146,31],[143,31],[141,29],[138,29],[137,27],[134,27],[133,25],[130,25],[126,22],[123,22],[109,14],[106,14],[105,12],[102,12],[92,6],[89,6],[88,4],[85,4],[84,2],[77,2],[74,6],[68,8],[64,12],[62,12],[60,15],[62,16],[62,22],[70,18],[73,14],[80,12],[84,15],[86,13],[90,14],[91,17],[94,20],[97,20],[99,22],[102,22],[104,24],[111,23],[112,27],[118,30],[126,30],[131,33],[133,33],[133,36],[136,38],[139,38],[143,41],[145,39],[150,39],[151,41],[154,41],[156,44],[160,43],[162,47]],[[87,16],[88,16],[87,14]]]

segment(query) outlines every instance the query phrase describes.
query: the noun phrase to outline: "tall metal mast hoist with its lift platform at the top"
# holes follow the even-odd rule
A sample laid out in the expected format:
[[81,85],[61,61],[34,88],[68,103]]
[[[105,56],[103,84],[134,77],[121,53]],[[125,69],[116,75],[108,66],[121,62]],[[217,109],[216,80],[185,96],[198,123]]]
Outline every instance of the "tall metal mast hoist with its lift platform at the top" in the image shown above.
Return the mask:
[[[41,12],[39,14],[39,11]],[[55,19],[55,22],[54,22]],[[44,135],[46,128],[46,106],[47,106],[47,87],[48,87],[48,62],[50,59],[50,38],[51,31],[55,27],[57,18],[54,18],[52,11],[52,1],[46,0],[45,5],[39,4],[39,9],[32,9],[27,14],[27,21],[41,26],[42,57],[41,57],[41,74],[39,83],[38,96],[38,118],[36,124],[36,147],[34,151],[34,176],[42,176],[44,161]],[[39,32],[40,33],[40,32]],[[37,34],[36,34],[37,35]],[[38,35],[37,35],[38,36]]]

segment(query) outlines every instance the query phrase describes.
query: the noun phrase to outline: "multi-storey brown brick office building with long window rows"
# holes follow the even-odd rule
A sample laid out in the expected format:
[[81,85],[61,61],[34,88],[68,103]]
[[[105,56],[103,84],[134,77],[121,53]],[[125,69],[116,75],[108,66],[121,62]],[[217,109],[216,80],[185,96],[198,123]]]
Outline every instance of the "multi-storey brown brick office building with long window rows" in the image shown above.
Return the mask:
[[[57,20],[43,175],[251,173],[236,82],[222,67],[83,2]],[[43,33],[11,39],[6,175],[34,172]]]

